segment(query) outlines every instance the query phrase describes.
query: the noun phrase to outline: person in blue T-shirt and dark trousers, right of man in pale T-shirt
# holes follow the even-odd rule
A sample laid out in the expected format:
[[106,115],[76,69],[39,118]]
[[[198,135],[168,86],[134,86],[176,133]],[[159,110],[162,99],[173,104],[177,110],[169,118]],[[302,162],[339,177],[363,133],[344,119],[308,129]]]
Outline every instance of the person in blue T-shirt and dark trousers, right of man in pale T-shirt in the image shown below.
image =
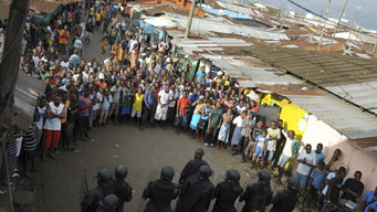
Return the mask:
[[[312,200],[315,200],[315,198],[318,195],[317,192],[322,188],[322,184],[324,183],[325,179],[328,176],[328,171],[325,170],[325,166],[326,166],[325,161],[321,160],[317,163],[317,168],[312,171],[311,179],[308,180],[308,184],[310,184],[308,192],[304,197],[302,205],[299,206],[301,211],[302,210],[310,211]],[[305,209],[305,202],[307,203],[306,209]]]

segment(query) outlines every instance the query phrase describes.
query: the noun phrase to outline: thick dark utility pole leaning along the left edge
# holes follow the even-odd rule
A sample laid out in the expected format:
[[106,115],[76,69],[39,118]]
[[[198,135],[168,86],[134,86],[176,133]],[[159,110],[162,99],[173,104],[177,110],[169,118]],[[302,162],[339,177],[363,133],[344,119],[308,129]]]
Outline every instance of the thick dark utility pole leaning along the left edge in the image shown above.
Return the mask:
[[[10,4],[9,23],[6,32],[4,49],[0,64],[0,131],[3,131],[2,124],[7,123],[8,116],[13,105],[13,91],[17,75],[19,73],[21,43],[23,38],[24,23],[29,12],[29,0],[12,0]],[[6,142],[2,142],[6,155]],[[7,165],[7,180],[10,182],[10,174]],[[10,211],[13,212],[13,200],[11,187],[8,184]]]

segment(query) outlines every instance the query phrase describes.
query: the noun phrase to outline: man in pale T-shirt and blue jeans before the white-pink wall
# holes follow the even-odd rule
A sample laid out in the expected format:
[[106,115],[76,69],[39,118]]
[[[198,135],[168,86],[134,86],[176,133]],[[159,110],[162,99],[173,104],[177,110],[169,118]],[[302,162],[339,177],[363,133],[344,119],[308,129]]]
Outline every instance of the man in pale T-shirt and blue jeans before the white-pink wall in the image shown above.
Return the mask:
[[312,145],[306,145],[305,151],[300,152],[297,161],[300,165],[294,177],[300,181],[299,194],[301,194],[301,192],[307,187],[307,180],[311,174],[312,167],[316,166],[316,157],[312,152]]

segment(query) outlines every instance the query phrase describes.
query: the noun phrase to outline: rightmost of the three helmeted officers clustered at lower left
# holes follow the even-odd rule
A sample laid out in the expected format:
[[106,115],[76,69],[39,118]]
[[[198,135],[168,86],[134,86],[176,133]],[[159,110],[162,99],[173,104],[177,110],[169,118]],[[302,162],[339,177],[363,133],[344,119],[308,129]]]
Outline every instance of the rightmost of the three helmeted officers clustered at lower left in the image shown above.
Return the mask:
[[125,182],[127,174],[128,169],[124,165],[119,165],[114,171],[114,193],[119,199],[119,206],[117,209],[117,212],[123,212],[124,203],[129,202],[133,199],[133,188],[128,182]]

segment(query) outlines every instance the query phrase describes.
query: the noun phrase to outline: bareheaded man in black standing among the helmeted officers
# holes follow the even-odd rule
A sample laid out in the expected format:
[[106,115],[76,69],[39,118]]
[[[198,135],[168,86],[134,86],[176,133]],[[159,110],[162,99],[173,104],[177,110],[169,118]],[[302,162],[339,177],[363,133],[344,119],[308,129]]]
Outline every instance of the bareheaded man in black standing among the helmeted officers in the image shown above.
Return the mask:
[[201,166],[209,166],[205,160],[202,160],[203,156],[205,156],[203,149],[197,148],[195,150],[193,159],[190,160],[184,168],[182,172],[180,172],[178,184],[184,183],[186,179],[198,173],[198,170]]

